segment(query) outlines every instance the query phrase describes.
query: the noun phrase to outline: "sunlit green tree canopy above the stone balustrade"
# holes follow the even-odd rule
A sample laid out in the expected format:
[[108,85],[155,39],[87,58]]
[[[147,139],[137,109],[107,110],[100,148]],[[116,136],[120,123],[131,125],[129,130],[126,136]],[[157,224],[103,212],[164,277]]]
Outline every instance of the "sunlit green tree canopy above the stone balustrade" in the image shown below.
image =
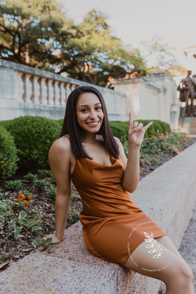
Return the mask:
[[[158,54],[160,66],[164,54],[172,64],[167,44],[155,40],[143,46],[149,55]],[[109,88],[113,78],[145,76],[149,71],[138,49],[123,46],[113,36],[105,14],[92,10],[76,26],[55,0],[0,2],[0,58]]]

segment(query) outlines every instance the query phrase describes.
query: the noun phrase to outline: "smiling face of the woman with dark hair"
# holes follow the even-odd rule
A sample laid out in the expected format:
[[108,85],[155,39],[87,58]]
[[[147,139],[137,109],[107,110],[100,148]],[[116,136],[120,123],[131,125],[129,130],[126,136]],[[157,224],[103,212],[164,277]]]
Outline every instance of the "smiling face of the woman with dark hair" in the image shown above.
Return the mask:
[[94,93],[83,93],[76,105],[78,123],[89,133],[99,131],[103,123],[103,111],[99,98]]

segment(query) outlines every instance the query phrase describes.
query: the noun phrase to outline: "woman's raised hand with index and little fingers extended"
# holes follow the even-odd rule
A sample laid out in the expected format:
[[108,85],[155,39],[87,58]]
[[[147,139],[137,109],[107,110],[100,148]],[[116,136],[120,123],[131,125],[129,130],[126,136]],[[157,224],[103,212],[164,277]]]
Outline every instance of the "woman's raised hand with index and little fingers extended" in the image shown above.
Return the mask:
[[153,121],[148,123],[145,127],[143,127],[143,123],[139,123],[135,121],[133,123],[132,113],[129,113],[129,131],[128,131],[128,142],[133,146],[140,147],[144,138],[145,131],[151,126]]

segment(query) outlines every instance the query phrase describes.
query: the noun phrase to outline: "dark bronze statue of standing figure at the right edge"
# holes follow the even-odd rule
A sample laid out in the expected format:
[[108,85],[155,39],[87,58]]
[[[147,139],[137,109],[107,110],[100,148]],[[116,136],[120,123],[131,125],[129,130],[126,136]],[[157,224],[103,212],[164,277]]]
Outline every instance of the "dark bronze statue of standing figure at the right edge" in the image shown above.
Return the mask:
[[193,78],[190,78],[192,71],[188,71],[188,75],[186,78],[183,78],[180,83],[182,83],[182,88],[180,88],[180,84],[177,87],[177,91],[180,92],[180,101],[186,102],[186,106],[183,111],[183,115],[185,116],[185,111],[188,104],[188,99],[190,98],[191,101],[191,110],[190,116],[193,116],[193,100],[195,98],[195,91],[196,91],[196,81]]

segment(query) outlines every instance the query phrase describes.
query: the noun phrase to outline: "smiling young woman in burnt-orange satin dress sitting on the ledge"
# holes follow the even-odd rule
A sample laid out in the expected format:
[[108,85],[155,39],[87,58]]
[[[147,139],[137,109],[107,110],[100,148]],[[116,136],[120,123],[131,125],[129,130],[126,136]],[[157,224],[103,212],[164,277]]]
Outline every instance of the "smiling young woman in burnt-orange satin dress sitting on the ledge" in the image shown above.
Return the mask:
[[[52,237],[53,244],[64,239],[72,180],[83,203],[84,241],[93,254],[162,280],[167,294],[193,294],[191,269],[129,194],[138,186],[140,146],[152,123],[145,127],[133,124],[129,113],[127,159],[120,140],[112,135],[101,93],[93,87],[79,87],[70,94],[60,138],[49,151],[57,184],[56,233],[46,237]],[[155,249],[154,257],[146,245]],[[162,270],[166,264],[169,266]]]

